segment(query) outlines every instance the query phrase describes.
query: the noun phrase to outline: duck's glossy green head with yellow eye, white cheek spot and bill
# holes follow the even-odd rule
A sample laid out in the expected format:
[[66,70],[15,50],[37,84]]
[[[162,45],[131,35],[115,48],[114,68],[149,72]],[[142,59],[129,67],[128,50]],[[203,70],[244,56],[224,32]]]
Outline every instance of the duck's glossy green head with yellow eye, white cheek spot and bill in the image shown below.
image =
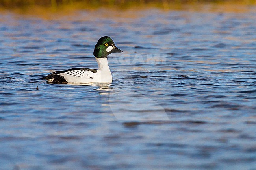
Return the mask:
[[110,37],[101,37],[95,45],[93,55],[97,58],[104,58],[111,53],[122,53],[122,50],[115,46],[115,43]]

